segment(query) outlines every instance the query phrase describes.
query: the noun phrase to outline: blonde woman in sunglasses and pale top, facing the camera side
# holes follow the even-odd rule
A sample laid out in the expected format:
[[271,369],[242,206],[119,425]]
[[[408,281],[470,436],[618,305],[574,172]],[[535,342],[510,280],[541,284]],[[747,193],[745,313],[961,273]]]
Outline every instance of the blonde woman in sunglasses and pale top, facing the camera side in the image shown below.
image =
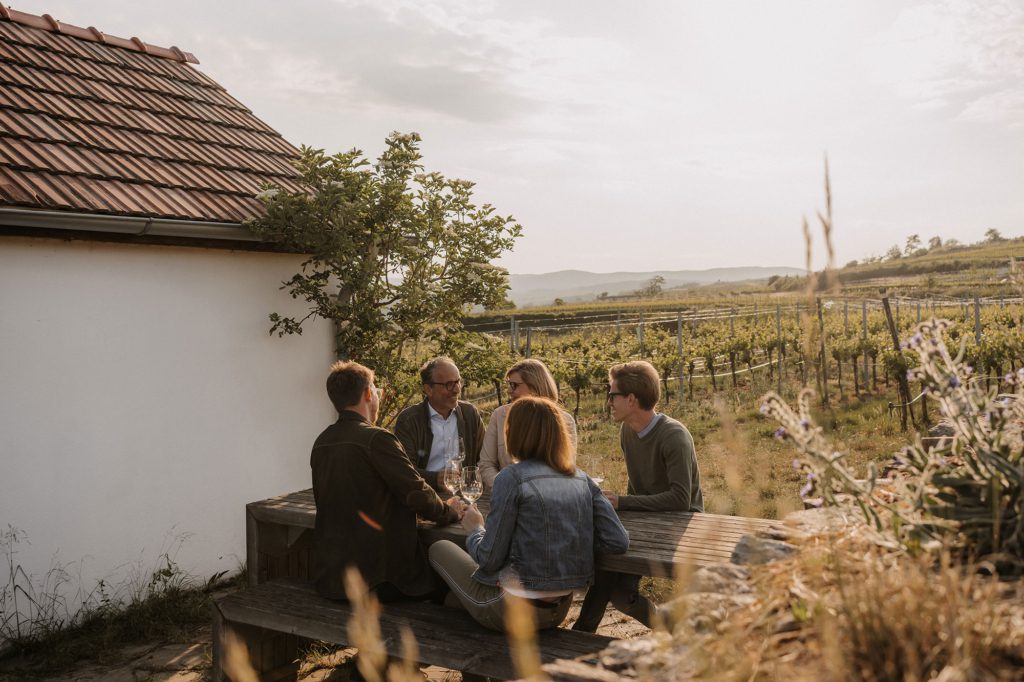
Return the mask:
[[[526,358],[519,360],[505,373],[505,383],[509,389],[509,404],[499,406],[490,413],[490,421],[483,432],[483,445],[480,449],[480,461],[477,464],[480,478],[485,489],[495,485],[495,476],[505,467],[512,464],[512,458],[505,449],[505,417],[509,407],[518,398],[536,396],[558,402],[558,385],[551,372],[541,360]],[[568,432],[569,442],[573,453],[577,446],[575,420],[572,415],[560,410],[562,420]]]

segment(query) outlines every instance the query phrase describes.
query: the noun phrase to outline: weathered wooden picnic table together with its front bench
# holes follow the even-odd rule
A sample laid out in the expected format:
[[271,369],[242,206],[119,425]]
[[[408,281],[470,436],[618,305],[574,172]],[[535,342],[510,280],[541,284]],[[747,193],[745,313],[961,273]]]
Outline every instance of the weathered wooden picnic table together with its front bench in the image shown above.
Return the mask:
[[[480,500],[481,510],[487,500]],[[250,589],[217,602],[215,628],[230,630],[249,648],[263,679],[294,678],[303,640],[350,644],[346,604],[322,599],[309,579],[316,507],[311,489],[246,505],[246,560]],[[630,532],[626,554],[600,557],[598,565],[639,576],[673,577],[681,567],[728,562],[739,539],[772,535],[778,521],[691,512],[621,512]],[[425,523],[421,539],[464,545],[459,524]],[[298,580],[296,580],[298,579]],[[430,604],[388,605],[381,628],[388,651],[400,655],[399,629],[408,626],[420,643],[420,663],[494,678],[514,677],[504,635],[481,628],[466,613]],[[542,658],[574,658],[603,649],[611,640],[567,630],[541,633]],[[465,646],[463,646],[465,642]],[[214,646],[215,680],[221,679],[224,651]],[[278,676],[278,677],[275,677]]]

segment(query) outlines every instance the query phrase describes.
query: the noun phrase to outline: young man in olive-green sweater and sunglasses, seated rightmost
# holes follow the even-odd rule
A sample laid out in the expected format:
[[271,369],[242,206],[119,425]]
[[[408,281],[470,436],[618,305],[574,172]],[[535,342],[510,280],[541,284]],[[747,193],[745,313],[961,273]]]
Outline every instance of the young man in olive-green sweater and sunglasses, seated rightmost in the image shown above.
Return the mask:
[[[649,363],[625,363],[608,371],[608,404],[611,418],[622,425],[618,439],[629,483],[627,495],[604,495],[615,509],[702,512],[693,437],[676,420],[654,412],[659,381]],[[595,632],[608,601],[647,627],[656,611],[640,594],[639,576],[599,569],[572,629]]]

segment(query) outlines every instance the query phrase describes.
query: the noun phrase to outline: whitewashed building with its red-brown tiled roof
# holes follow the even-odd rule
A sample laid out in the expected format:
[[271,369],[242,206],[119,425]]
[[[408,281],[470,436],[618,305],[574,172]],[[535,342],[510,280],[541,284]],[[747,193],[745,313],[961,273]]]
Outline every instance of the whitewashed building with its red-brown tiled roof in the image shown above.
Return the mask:
[[236,570],[335,418],[329,326],[267,333],[301,256],[241,225],[296,150],[177,48],[3,5],[0,48],[0,586]]

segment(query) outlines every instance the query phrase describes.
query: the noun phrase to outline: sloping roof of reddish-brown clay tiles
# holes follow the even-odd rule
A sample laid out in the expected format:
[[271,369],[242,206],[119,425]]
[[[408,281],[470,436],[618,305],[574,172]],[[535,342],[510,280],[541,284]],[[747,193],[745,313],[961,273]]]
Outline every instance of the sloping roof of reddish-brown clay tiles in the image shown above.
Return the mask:
[[240,222],[297,150],[176,47],[0,5],[0,206]]

